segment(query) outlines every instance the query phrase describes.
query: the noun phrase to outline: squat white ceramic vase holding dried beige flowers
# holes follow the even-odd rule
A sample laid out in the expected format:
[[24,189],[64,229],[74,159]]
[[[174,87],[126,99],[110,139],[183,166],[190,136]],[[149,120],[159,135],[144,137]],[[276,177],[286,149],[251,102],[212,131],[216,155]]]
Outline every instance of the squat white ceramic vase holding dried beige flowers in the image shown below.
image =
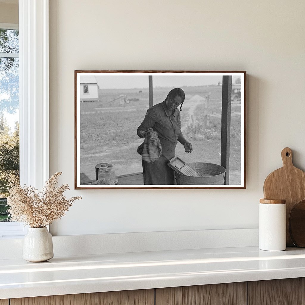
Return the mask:
[[46,227],[29,228],[23,241],[22,258],[29,262],[44,262],[51,259],[53,254],[52,235]]

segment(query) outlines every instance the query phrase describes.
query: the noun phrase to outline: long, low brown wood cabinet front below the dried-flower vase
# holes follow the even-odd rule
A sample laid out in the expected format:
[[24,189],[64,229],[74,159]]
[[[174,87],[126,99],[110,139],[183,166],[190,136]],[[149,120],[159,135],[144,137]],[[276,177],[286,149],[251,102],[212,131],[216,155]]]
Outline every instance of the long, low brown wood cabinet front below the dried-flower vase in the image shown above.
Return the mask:
[[11,305],[154,305],[154,289],[37,296],[11,299]]

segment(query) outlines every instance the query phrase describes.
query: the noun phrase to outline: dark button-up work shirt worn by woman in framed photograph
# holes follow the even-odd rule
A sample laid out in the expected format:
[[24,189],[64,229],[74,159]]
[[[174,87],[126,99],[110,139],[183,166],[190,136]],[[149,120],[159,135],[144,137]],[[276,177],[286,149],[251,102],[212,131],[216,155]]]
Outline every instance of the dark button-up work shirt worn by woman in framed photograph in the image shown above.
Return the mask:
[[179,110],[175,108],[172,114],[172,111],[167,109],[165,101],[152,106],[147,109],[145,118],[137,129],[138,136],[143,138],[139,135],[139,131],[145,131],[149,127],[152,127],[158,133],[161,144],[177,144],[178,137],[181,134]]

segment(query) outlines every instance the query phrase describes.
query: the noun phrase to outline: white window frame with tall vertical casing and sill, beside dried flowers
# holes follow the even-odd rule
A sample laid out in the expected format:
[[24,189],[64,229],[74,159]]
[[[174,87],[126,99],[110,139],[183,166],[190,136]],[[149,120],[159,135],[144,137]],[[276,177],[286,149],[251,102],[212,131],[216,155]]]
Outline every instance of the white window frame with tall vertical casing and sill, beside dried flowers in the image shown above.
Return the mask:
[[[20,184],[38,189],[49,178],[48,30],[48,0],[19,0]],[[2,222],[0,238],[22,237],[27,229]]]

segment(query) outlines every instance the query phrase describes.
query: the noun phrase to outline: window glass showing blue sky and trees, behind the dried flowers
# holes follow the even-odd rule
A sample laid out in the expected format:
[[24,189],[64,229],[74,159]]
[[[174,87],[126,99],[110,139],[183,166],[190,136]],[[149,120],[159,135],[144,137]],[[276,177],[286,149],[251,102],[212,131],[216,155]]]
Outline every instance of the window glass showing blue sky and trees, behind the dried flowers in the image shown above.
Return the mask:
[[9,220],[11,179],[19,180],[19,31],[0,24],[0,222]]

